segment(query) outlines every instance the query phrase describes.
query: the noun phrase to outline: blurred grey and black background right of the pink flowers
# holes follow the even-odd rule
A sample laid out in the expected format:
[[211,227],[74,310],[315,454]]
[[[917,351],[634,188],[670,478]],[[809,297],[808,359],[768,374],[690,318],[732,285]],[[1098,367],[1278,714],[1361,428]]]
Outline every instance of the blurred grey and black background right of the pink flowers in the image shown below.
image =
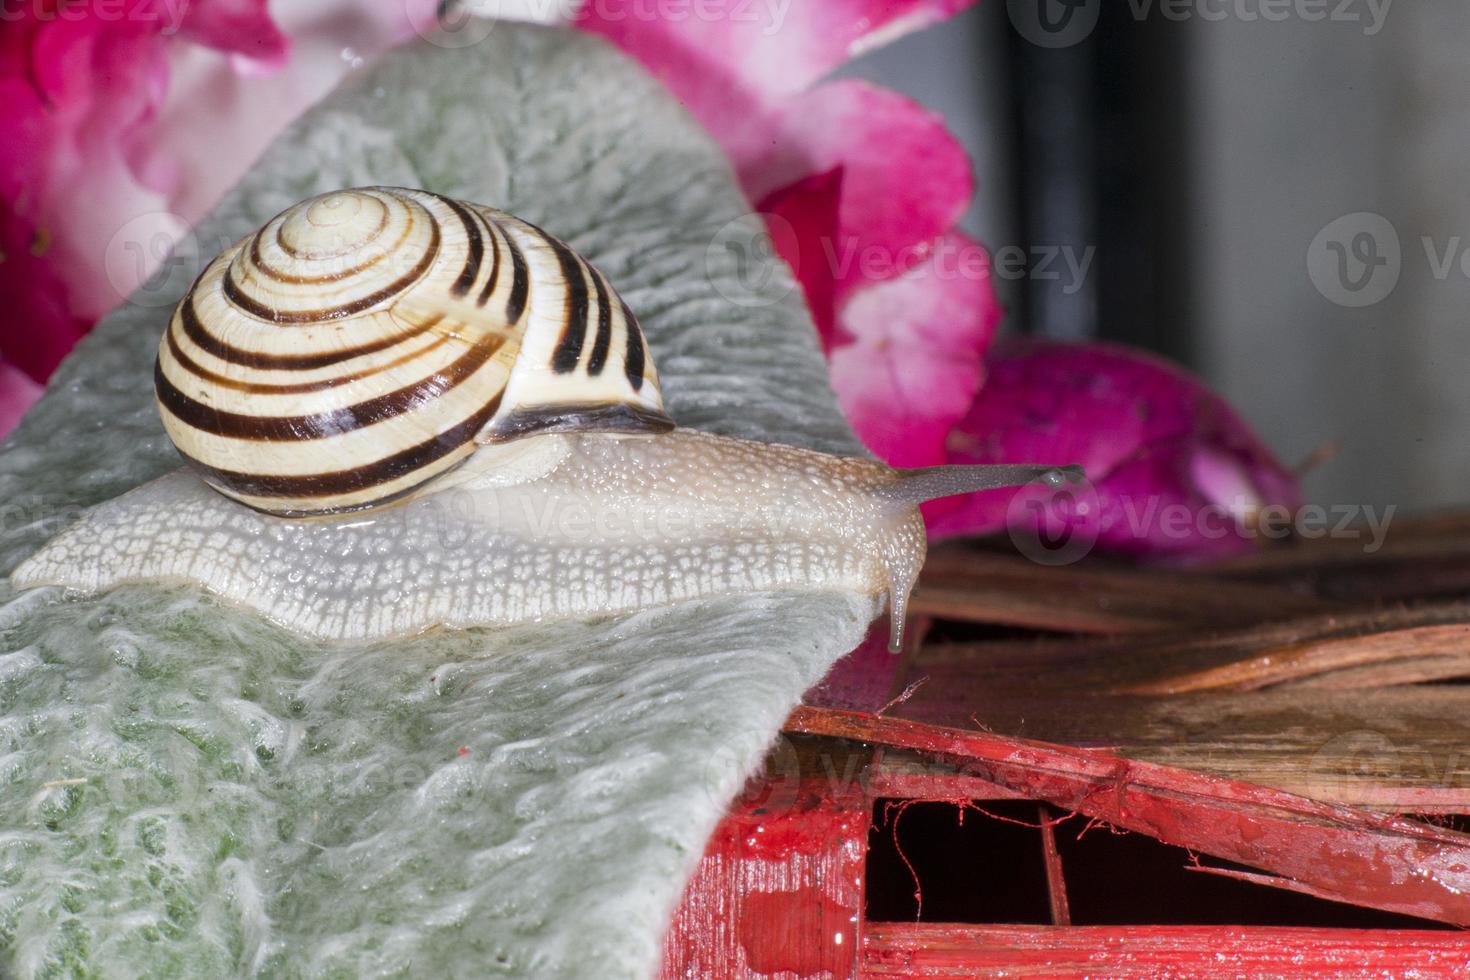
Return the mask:
[[1467,43],[1458,0],[983,0],[842,73],[970,148],[1005,329],[1166,354],[1332,445],[1311,498],[1423,510],[1470,476]]

